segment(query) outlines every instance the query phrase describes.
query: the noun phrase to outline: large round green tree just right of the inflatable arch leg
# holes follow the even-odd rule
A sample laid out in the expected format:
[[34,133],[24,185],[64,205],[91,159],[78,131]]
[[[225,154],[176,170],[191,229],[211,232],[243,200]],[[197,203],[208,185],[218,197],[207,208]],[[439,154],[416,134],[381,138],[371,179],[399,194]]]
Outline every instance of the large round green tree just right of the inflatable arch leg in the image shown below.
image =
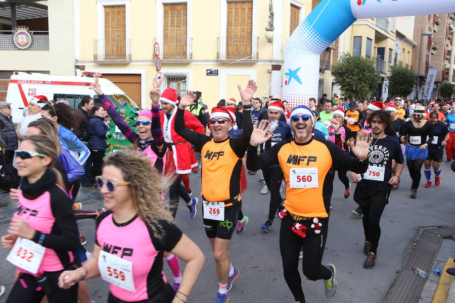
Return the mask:
[[368,99],[381,83],[379,71],[371,59],[343,54],[341,60],[332,67],[335,83],[341,93],[356,100]]

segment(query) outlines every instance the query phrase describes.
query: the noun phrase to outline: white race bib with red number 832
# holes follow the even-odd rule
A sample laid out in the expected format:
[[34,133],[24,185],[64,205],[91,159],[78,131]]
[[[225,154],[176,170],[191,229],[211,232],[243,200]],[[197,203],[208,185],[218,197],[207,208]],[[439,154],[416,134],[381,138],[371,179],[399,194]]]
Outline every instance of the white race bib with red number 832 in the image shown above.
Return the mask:
[[32,274],[38,273],[46,248],[31,240],[17,238],[6,260]]

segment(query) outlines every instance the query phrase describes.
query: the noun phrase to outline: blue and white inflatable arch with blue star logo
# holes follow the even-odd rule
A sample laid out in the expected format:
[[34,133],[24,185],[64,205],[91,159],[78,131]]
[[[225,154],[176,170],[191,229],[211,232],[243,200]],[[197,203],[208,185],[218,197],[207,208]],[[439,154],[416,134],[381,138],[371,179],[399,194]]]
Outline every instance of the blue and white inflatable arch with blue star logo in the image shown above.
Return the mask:
[[[356,19],[455,12],[455,0],[323,0],[286,46],[283,100],[294,107],[317,99],[321,53]],[[332,22],[336,20],[336,22]]]

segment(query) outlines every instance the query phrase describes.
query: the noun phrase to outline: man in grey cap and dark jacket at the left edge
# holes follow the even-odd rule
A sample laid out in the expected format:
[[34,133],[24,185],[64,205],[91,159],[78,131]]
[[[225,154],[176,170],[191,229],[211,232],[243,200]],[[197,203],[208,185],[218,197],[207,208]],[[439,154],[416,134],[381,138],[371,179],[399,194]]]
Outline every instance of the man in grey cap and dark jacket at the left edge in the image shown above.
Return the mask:
[[2,130],[2,139],[5,141],[5,156],[9,163],[13,163],[14,150],[17,149],[17,136],[14,130],[13,117],[11,116],[11,103],[0,102],[0,129]]

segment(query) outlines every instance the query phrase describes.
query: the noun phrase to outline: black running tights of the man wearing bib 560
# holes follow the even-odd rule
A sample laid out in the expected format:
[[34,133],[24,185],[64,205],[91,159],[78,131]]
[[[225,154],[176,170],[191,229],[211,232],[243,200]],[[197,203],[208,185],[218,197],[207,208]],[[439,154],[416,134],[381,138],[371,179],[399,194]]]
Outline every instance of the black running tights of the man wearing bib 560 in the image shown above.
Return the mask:
[[308,279],[313,281],[328,280],[332,276],[332,272],[321,264],[326,246],[329,218],[320,218],[320,222],[322,223],[320,234],[315,234],[309,226],[312,222],[308,222],[307,235],[302,238],[291,230],[295,223],[291,216],[286,216],[281,221],[280,251],[283,273],[296,301],[305,302],[302,280],[298,270],[300,250],[303,250],[303,274]]

